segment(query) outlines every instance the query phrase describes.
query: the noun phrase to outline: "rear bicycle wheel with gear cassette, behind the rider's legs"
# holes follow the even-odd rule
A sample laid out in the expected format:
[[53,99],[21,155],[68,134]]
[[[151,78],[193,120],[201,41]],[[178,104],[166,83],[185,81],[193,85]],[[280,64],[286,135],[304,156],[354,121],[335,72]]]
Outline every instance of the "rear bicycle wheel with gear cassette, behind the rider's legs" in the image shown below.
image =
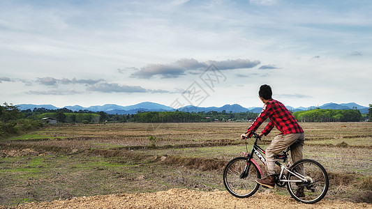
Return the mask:
[[[327,171],[315,160],[299,160],[292,165],[290,170],[294,173],[304,173],[306,181],[302,183],[288,182],[287,188],[290,195],[302,203],[316,203],[327,194],[329,179]],[[288,173],[288,180],[300,180],[292,173]]]

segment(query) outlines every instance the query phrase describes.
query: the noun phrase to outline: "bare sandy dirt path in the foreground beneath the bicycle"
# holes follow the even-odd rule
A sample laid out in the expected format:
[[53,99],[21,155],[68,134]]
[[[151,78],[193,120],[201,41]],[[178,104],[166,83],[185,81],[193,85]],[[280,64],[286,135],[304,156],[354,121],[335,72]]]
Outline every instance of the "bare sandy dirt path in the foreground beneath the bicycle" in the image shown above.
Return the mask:
[[[285,206],[285,207],[284,207]],[[6,208],[1,207],[0,208]],[[13,208],[13,207],[12,207]],[[170,189],[156,193],[111,194],[70,200],[27,203],[14,208],[372,208],[372,204],[325,200],[313,205],[299,203],[269,190],[238,199],[226,191],[200,192]]]

